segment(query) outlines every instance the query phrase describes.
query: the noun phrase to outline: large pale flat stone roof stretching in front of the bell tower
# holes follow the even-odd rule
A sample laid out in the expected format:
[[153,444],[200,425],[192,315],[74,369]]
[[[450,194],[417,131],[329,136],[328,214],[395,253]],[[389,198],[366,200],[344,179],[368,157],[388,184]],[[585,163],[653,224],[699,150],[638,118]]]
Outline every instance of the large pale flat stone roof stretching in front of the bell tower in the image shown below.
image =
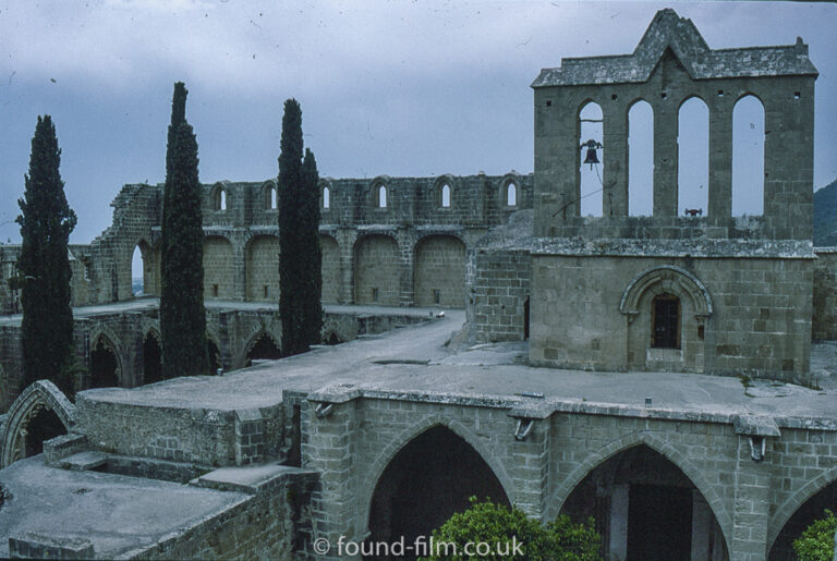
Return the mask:
[[[527,366],[527,343],[446,346],[464,313],[235,370],[175,378],[134,389],[82,392],[84,399],[138,406],[232,411],[281,402],[282,390],[354,392],[369,398],[512,408],[534,401],[553,411],[714,420],[774,417],[779,426],[837,429],[837,342],[812,345],[822,389],[771,380],[675,373],[596,373]],[[543,400],[521,394],[542,393]],[[645,398],[652,406],[645,407]],[[315,397],[312,397],[315,398]]]

